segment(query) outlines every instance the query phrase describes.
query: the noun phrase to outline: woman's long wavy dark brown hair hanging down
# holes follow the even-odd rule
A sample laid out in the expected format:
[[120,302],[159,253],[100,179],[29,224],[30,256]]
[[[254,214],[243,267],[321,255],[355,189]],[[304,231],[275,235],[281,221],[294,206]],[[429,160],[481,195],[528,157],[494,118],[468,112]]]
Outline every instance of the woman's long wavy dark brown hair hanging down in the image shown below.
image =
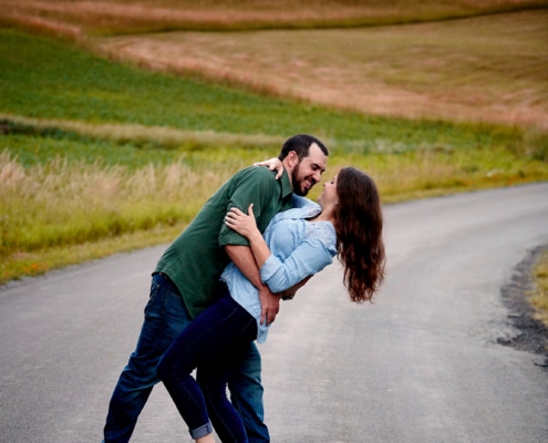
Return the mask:
[[344,286],[356,303],[369,301],[384,280],[383,217],[373,179],[353,167],[337,178],[337,249],[344,266]]

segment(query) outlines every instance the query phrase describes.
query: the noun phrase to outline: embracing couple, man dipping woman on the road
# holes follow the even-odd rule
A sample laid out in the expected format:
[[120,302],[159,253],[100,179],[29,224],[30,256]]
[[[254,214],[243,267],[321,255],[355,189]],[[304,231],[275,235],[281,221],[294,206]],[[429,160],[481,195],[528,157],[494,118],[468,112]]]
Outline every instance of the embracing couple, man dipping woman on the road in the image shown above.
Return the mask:
[[136,349],[112,394],[104,442],[130,441],[158,381],[196,442],[215,442],[214,429],[223,442],[270,441],[255,341],[266,340],[280,299],[334,257],[354,302],[370,300],[384,276],[371,177],[345,167],[323,185],[318,204],[304,197],[327,159],[318,138],[288,138],[269,168],[251,166],[228,179],[166,249]]

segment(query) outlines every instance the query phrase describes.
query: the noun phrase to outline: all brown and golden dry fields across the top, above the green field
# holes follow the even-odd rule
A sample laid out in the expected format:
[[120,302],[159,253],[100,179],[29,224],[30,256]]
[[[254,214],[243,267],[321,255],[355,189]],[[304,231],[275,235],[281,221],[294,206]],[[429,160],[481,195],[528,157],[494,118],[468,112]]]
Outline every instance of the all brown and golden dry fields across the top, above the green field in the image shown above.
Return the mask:
[[0,0],[0,23],[153,70],[368,114],[548,121],[546,0],[101,4]]

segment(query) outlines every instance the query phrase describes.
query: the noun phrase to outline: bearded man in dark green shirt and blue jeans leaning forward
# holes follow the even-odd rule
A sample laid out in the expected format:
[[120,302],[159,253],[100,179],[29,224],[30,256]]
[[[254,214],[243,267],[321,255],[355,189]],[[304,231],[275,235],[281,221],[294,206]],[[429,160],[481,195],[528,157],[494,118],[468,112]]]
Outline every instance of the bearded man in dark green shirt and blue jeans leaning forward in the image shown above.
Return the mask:
[[[257,226],[262,233],[277,213],[291,207],[292,193],[307,195],[320,181],[327,157],[327,147],[311,135],[288,138],[279,155],[285,168],[280,179],[263,167],[239,171],[206,202],[190,225],[166,249],[153,272],[151,298],[136,349],[111,398],[104,427],[105,443],[130,441],[138,414],[159,381],[156,365],[161,357],[193,318],[213,303],[220,274],[230,260],[259,289],[261,321],[275,321],[280,296],[262,285],[247,239],[226,227],[225,216],[232,206],[247,210],[254,203]],[[260,354],[255,344],[230,380],[229,389],[249,442],[268,442]]]

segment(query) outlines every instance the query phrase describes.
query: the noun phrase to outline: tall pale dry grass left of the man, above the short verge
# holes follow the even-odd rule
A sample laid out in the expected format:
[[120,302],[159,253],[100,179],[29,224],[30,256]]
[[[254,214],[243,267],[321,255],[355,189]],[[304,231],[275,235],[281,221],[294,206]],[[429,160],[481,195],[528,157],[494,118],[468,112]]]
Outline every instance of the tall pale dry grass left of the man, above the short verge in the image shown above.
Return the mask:
[[56,158],[24,168],[0,154],[0,257],[183,225],[229,171],[175,162],[136,171]]

